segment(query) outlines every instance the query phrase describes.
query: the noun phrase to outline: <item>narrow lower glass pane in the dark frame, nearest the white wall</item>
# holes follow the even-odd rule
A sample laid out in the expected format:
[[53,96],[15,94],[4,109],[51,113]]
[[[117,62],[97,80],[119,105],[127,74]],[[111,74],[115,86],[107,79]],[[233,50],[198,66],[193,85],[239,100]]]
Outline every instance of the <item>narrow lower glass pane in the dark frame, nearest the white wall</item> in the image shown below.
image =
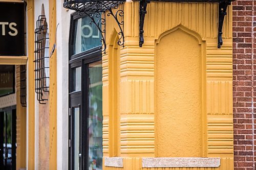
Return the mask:
[[79,169],[79,153],[80,153],[80,109],[74,108],[73,109],[73,125],[74,125],[74,147],[73,147],[73,152],[74,152],[74,170]]

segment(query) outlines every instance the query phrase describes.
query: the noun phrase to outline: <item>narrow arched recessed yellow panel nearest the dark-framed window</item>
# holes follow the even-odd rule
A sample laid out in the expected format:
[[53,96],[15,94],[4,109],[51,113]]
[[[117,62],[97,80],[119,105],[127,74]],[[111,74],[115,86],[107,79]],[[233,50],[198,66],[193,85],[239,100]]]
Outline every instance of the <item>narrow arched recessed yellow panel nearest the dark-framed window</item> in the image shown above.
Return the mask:
[[113,31],[109,45],[109,155],[120,156],[120,47],[118,33]]

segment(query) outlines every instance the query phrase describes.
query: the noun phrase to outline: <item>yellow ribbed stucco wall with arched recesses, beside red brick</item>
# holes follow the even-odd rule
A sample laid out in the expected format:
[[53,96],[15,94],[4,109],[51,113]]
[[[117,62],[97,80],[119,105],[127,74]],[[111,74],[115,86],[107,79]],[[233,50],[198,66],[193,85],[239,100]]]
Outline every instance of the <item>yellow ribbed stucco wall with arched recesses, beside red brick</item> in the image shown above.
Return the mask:
[[142,48],[139,3],[119,8],[125,35],[120,70],[114,67],[118,27],[106,17],[103,154],[123,157],[124,167],[104,169],[161,169],[142,168],[141,157],[220,157],[219,168],[205,169],[233,169],[231,6],[221,49],[218,4],[151,2]]

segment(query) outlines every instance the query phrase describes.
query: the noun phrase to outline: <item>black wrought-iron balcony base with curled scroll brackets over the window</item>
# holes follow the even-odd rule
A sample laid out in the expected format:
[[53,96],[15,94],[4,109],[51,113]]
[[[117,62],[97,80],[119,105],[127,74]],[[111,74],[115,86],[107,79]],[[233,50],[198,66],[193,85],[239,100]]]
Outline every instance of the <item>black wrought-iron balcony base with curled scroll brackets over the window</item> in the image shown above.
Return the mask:
[[116,21],[119,28],[119,39],[117,41],[117,44],[120,46],[124,46],[124,12],[123,9],[119,9],[119,5],[123,2],[125,2],[125,0],[64,0],[63,7],[77,11],[81,16],[85,14],[91,18],[90,23],[94,24],[101,34],[100,51],[105,53],[105,16],[112,16]]

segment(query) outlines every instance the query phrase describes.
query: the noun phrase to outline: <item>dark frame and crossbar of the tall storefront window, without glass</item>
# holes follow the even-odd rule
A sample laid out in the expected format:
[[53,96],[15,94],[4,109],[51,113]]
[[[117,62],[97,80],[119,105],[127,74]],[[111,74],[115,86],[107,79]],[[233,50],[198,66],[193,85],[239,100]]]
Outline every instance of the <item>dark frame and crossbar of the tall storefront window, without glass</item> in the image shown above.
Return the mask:
[[[85,52],[72,55],[72,44],[74,41],[74,21],[82,18],[77,12],[71,14],[70,22],[70,36],[69,36],[69,169],[72,170],[74,167],[74,116],[73,109],[79,107],[80,114],[80,153],[82,154],[79,159],[80,169],[86,169],[88,167],[88,156],[89,156],[89,140],[87,123],[89,116],[89,64],[102,60],[102,52],[99,51],[99,46],[94,47]],[[72,69],[81,67],[81,91],[73,91],[73,72]],[[84,104],[84,105],[83,105]],[[83,135],[82,135],[83,134]],[[82,144],[83,143],[83,144]]]

